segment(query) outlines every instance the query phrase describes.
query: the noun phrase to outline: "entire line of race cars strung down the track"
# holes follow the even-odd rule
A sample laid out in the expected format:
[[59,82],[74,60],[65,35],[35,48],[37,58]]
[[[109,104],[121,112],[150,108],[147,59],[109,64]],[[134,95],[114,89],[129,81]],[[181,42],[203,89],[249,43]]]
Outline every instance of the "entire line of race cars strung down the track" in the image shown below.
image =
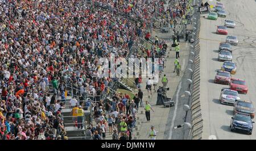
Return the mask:
[[[214,12],[210,11],[208,19],[217,20],[218,17],[226,17],[225,6],[217,2]],[[217,26],[216,33],[228,35],[228,28],[235,28],[233,20],[225,20],[224,26]],[[218,61],[224,61],[221,69],[218,70],[214,78],[214,83],[229,85],[228,88],[221,89],[220,103],[234,106],[233,117],[230,121],[230,130],[243,131],[251,135],[253,131],[252,119],[255,116],[255,109],[250,100],[241,100],[240,94],[247,94],[248,87],[245,80],[233,78],[232,74],[237,73],[237,64],[232,61],[232,45],[237,45],[237,36],[227,36],[225,42],[221,42],[218,48]]]

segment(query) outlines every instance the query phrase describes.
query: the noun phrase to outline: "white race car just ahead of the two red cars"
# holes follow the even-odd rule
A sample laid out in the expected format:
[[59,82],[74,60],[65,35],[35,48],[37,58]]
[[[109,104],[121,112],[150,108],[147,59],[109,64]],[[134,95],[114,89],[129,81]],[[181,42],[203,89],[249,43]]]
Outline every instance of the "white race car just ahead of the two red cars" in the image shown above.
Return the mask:
[[234,105],[234,103],[240,100],[239,94],[237,91],[229,90],[229,89],[222,89],[220,94],[220,103],[221,104],[228,104]]

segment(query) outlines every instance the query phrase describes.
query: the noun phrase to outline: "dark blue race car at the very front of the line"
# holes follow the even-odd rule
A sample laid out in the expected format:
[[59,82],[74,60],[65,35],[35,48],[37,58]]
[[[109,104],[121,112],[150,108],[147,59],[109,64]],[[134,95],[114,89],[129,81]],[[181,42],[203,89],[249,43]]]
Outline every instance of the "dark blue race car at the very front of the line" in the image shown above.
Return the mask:
[[247,114],[235,114],[230,121],[230,131],[240,130],[245,131],[251,135],[253,132],[253,123],[250,115]]

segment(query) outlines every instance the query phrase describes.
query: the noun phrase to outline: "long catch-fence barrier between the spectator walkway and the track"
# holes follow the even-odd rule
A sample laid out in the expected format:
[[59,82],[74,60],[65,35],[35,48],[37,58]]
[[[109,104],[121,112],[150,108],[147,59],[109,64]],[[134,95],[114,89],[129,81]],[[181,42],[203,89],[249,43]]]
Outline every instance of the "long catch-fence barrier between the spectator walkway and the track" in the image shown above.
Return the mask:
[[[201,1],[197,1],[199,4]],[[202,139],[203,132],[203,119],[201,114],[201,104],[200,104],[200,12],[197,12],[195,9],[195,13],[193,14],[193,33],[192,39],[193,43],[190,46],[190,70],[191,77],[188,79],[191,83],[189,84],[188,91],[190,93],[188,105],[190,110],[187,111],[187,116],[185,118],[185,122],[191,124],[191,129],[189,129],[189,134],[187,139],[199,140]]]

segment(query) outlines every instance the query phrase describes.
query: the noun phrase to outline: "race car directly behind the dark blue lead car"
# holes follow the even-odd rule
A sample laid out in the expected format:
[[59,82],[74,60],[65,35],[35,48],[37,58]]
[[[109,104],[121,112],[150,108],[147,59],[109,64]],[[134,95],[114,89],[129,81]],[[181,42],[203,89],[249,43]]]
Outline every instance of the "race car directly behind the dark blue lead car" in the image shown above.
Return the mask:
[[234,104],[233,112],[234,114],[249,114],[251,119],[255,116],[255,108],[250,100],[238,100]]

